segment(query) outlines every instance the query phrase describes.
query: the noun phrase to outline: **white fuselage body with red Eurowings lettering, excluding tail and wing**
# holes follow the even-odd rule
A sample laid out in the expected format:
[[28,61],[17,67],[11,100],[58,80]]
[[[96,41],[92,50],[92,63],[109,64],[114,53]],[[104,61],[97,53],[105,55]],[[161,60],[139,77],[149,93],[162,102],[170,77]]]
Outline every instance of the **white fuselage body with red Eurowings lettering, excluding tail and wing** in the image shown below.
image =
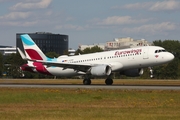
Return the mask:
[[[173,58],[173,54],[166,52],[162,47],[144,46],[84,55],[59,57],[57,61],[59,63],[69,64],[109,65],[112,72],[115,72],[161,65],[173,60]],[[46,67],[46,69],[55,76],[74,76],[85,74],[69,68]]]

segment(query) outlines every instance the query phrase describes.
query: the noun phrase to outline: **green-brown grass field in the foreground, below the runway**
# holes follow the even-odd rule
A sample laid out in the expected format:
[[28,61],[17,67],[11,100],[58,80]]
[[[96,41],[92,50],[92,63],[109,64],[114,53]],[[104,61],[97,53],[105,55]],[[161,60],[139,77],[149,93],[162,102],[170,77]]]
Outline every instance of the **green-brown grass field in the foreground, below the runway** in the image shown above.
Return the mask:
[[1,120],[179,120],[180,91],[0,88]]

